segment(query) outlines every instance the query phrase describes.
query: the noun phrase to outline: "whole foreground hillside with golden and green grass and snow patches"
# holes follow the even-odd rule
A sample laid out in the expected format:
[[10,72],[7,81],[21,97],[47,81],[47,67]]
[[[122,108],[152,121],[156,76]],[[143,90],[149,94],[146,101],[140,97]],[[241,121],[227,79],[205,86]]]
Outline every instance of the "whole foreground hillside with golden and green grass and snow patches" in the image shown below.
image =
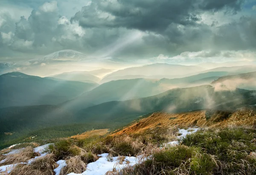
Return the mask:
[[9,146],[0,151],[0,172],[253,175],[255,122],[253,107],[233,112],[156,112],[108,135],[108,129],[92,129],[71,138]]

